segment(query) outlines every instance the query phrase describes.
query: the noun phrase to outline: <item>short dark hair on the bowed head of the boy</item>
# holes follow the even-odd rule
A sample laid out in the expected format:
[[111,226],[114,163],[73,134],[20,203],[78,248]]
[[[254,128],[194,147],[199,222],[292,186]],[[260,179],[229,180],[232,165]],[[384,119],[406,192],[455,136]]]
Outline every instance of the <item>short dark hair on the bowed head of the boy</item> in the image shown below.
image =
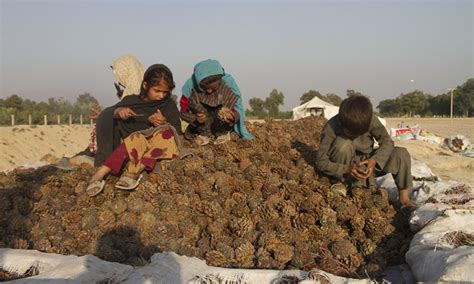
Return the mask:
[[372,103],[365,96],[355,95],[343,100],[339,107],[339,121],[344,134],[356,138],[369,131],[372,114]]

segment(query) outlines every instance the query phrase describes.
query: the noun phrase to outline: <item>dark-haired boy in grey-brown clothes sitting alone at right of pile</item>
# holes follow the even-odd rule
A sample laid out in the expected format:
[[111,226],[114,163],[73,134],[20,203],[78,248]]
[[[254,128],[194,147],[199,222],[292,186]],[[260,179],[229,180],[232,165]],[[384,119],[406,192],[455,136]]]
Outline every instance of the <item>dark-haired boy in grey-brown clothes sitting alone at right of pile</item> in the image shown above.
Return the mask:
[[[374,139],[379,148],[374,148]],[[316,155],[320,172],[351,186],[376,186],[375,176],[391,173],[402,206],[416,207],[408,190],[413,186],[410,154],[394,147],[385,127],[373,114],[367,97],[351,96],[321,133]]]

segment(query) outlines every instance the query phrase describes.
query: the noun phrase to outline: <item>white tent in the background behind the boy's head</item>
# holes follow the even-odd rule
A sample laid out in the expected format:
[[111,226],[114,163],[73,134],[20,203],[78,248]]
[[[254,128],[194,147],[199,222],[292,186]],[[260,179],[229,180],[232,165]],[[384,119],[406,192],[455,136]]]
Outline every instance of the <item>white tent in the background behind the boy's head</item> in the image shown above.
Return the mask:
[[[293,120],[307,116],[324,116],[327,120],[338,114],[339,107],[314,97],[309,102],[293,108]],[[387,126],[385,119],[377,116],[383,126]]]

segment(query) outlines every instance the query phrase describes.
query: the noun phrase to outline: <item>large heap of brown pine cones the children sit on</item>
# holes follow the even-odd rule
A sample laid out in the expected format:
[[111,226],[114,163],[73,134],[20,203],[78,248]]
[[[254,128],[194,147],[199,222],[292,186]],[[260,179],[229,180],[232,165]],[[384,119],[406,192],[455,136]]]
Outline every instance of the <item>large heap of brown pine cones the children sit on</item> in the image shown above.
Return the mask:
[[141,265],[174,251],[209,265],[319,268],[380,277],[404,262],[411,235],[383,190],[332,192],[314,168],[323,118],[249,125],[252,141],[194,148],[161,162],[135,191],[84,190],[94,169],[0,175],[0,247],[95,254]]

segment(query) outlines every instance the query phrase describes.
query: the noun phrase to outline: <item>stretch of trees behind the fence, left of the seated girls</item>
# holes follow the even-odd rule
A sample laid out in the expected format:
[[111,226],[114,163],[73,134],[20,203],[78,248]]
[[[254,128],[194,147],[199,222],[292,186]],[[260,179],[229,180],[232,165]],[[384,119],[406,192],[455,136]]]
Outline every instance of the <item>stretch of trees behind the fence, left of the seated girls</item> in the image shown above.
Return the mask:
[[42,124],[44,115],[48,115],[48,123],[56,123],[57,115],[63,123],[69,121],[69,115],[72,115],[73,123],[79,122],[81,114],[84,121],[87,121],[92,104],[98,104],[98,101],[89,93],[80,94],[74,102],[64,98],[49,98],[47,102],[36,102],[11,95],[0,99],[0,125],[9,125],[12,114],[15,115],[16,124],[27,124],[29,115],[32,124]]

